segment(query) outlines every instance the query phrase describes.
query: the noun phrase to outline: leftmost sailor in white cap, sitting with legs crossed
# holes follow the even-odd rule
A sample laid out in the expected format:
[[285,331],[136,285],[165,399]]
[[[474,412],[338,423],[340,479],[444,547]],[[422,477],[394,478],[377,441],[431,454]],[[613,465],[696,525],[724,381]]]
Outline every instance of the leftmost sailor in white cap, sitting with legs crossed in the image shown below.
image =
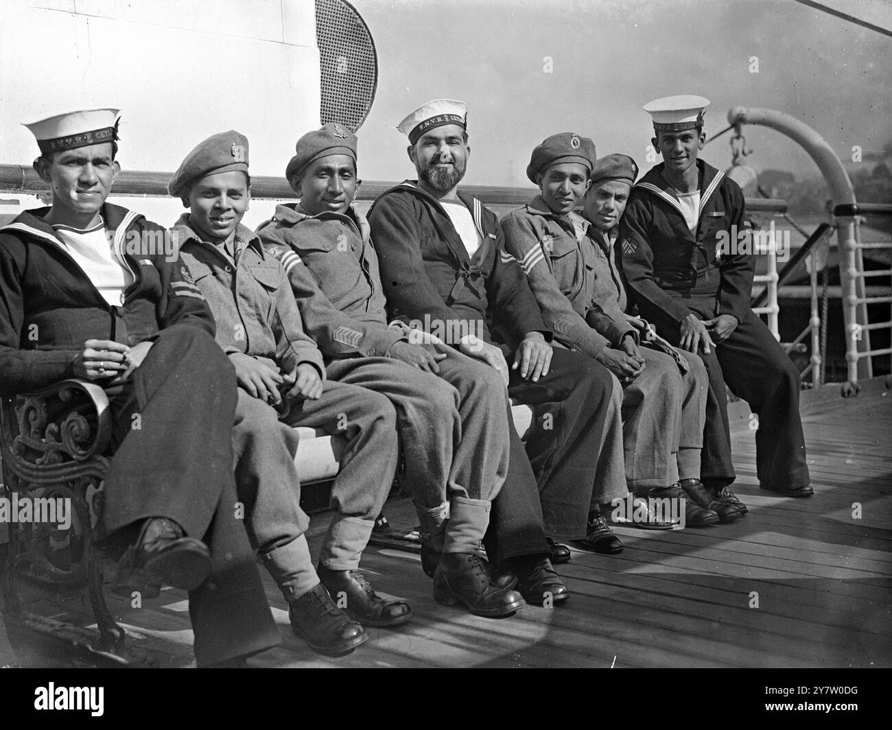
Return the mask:
[[68,377],[103,387],[115,445],[95,539],[123,552],[114,590],[189,591],[197,663],[229,664],[279,643],[232,510],[235,387],[219,387],[232,366],[201,290],[158,245],[164,228],[105,203],[117,112],[27,123],[53,205],[0,228],[0,394]]

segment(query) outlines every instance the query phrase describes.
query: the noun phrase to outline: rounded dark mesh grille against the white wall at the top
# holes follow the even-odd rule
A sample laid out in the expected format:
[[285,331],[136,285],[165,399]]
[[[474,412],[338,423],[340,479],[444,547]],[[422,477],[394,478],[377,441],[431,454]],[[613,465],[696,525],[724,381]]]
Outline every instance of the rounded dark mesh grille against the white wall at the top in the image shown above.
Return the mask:
[[355,132],[375,101],[378,59],[366,23],[345,0],[316,0],[316,40],[322,66],[323,124]]

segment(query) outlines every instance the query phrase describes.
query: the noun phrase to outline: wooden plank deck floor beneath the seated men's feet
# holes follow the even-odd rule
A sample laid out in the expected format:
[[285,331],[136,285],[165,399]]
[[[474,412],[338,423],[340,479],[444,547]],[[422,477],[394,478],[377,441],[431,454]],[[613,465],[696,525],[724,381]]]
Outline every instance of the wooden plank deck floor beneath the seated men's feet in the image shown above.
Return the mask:
[[[262,667],[880,667],[892,665],[892,395],[880,380],[843,400],[838,386],[803,394],[815,495],[769,496],[756,481],[753,433],[733,437],[747,517],[678,532],[618,529],[617,556],[574,550],[560,566],[572,593],[547,610],[500,620],[436,604],[412,552],[369,545],[363,558],[379,593],[410,602],[415,618],[368,629],[368,643],[327,659],[295,638],[285,601],[261,571],[283,645]],[[857,504],[855,504],[857,503]],[[854,517],[860,505],[860,518]],[[410,528],[407,499],[388,502],[392,526]],[[312,519],[314,554],[325,514]],[[88,625],[80,593],[26,589],[32,610]],[[194,666],[185,593],[132,609],[109,596],[131,642],[158,666]],[[0,618],[2,622],[2,618]],[[12,657],[12,659],[10,659]],[[0,623],[0,666],[78,666],[58,646]]]

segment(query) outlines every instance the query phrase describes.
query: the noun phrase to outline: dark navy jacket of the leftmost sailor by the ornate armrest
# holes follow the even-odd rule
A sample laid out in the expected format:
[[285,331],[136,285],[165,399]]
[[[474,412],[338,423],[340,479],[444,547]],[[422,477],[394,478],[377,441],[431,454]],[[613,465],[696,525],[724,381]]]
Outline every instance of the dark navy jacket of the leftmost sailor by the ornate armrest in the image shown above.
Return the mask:
[[112,250],[134,275],[124,301],[112,306],[44,222],[49,210],[23,212],[0,228],[0,394],[73,377],[72,363],[88,339],[132,346],[178,325],[214,335],[201,290],[183,261],[165,253],[164,228],[118,205],[103,206]]

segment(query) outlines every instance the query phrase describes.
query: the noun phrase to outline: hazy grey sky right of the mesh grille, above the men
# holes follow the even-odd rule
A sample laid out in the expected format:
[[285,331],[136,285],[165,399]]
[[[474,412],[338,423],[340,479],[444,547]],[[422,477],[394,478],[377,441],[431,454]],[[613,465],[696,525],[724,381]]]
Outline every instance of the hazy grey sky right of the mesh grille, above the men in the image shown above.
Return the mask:
[[[892,29],[890,0],[823,2]],[[352,4],[378,54],[376,100],[359,130],[359,172],[367,179],[412,176],[406,138],[394,128],[434,98],[467,103],[466,182],[481,185],[528,185],[533,147],[562,131],[591,137],[599,155],[630,154],[647,170],[652,129],[641,106],[673,94],[711,100],[707,136],[743,105],[804,121],[845,162],[854,145],[869,164],[871,151],[892,141],[892,38],[793,0]],[[756,170],[818,174],[779,132],[747,126],[744,134]],[[707,145],[704,159],[728,167],[729,137]]]

